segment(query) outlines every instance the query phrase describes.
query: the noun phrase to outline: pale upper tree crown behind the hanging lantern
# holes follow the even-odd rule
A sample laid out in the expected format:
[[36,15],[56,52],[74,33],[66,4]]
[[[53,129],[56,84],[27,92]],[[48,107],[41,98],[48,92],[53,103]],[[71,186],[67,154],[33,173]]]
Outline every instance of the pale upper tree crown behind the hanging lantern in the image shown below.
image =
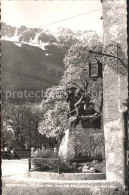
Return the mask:
[[102,101],[102,78],[96,80],[89,77],[89,62],[92,60],[101,61],[101,57],[90,54],[89,50],[102,51],[102,44],[91,40],[91,45],[84,43],[72,46],[64,59],[66,71],[60,83],[65,87],[76,87],[91,93],[91,97],[95,100],[96,109],[99,110]]

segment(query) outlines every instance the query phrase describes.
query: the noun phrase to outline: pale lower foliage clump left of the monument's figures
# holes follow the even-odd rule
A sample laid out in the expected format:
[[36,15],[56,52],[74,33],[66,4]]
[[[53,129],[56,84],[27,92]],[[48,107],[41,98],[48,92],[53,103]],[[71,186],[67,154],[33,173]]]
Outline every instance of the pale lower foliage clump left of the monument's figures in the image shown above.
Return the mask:
[[56,137],[57,129],[64,129],[67,122],[68,103],[63,86],[53,86],[46,90],[46,99],[42,100],[41,110],[45,112],[39,124],[39,132],[47,137]]

